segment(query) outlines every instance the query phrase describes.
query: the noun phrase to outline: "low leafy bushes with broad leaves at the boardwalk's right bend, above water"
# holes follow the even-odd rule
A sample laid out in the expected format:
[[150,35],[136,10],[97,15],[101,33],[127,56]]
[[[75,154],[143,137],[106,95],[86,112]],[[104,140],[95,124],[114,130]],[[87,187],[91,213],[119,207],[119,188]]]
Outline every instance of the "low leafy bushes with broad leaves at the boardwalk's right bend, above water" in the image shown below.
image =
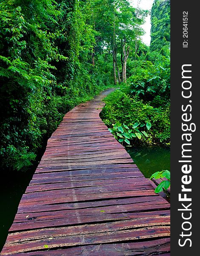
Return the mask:
[[[122,86],[105,99],[106,106],[101,112],[101,117],[111,132],[122,142],[120,139],[125,140],[125,137],[120,133],[118,126],[123,124],[136,135],[135,139],[130,138],[131,145],[139,142],[169,144],[170,105],[153,107],[138,96],[129,95],[129,90],[129,86]],[[126,133],[128,128],[123,127]]]

